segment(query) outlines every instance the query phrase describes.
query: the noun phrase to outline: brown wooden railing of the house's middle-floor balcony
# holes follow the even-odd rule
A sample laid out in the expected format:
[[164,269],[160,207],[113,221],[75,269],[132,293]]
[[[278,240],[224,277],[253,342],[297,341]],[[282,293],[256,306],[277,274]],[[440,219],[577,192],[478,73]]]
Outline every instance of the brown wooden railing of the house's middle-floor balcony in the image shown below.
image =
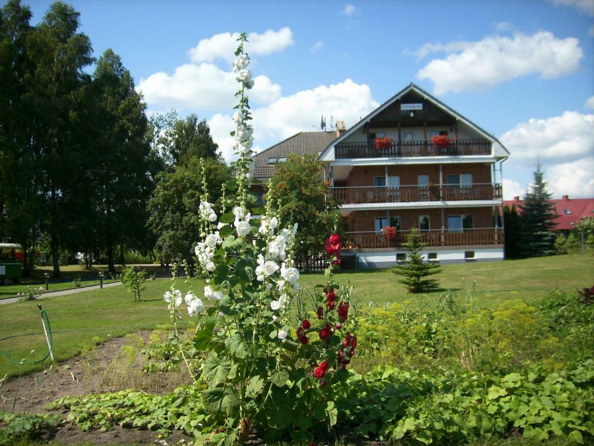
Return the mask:
[[343,205],[454,200],[501,200],[501,184],[444,184],[443,186],[331,187],[328,196]]

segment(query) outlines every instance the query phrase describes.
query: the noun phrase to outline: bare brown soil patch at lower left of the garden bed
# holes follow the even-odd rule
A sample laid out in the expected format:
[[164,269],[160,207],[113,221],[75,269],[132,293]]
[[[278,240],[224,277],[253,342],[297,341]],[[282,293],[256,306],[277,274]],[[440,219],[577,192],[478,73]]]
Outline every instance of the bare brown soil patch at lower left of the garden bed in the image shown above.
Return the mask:
[[[154,394],[167,394],[181,384],[191,382],[187,372],[143,373],[144,356],[150,331],[114,338],[66,362],[48,365],[43,372],[33,372],[7,382],[0,382],[0,411],[11,412],[14,397],[15,413],[58,413],[46,405],[65,396],[81,396],[115,392],[126,388]],[[153,444],[162,440],[157,432],[140,429],[83,432],[64,422],[44,442],[53,444]],[[182,441],[183,440],[183,441]],[[192,437],[173,432],[168,444],[190,442]]]

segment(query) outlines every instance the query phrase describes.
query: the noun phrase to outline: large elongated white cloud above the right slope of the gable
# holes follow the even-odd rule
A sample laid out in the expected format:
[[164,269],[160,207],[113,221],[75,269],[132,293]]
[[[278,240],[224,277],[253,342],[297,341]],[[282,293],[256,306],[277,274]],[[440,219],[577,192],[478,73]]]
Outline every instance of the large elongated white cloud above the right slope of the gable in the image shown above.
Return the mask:
[[417,77],[431,80],[437,95],[488,89],[532,73],[543,78],[564,76],[576,71],[583,57],[575,37],[558,39],[546,31],[532,36],[516,33],[513,39],[495,36],[478,42],[425,43],[414,54],[423,58],[433,52],[447,56],[433,59]]

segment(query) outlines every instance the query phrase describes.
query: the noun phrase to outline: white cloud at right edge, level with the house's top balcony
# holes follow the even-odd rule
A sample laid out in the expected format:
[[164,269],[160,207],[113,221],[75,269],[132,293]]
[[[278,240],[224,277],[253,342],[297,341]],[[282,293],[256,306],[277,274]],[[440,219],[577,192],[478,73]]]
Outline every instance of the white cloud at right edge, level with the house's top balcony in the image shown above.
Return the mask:
[[500,140],[515,164],[576,161],[594,153],[594,115],[565,111],[548,119],[532,118],[506,131]]

